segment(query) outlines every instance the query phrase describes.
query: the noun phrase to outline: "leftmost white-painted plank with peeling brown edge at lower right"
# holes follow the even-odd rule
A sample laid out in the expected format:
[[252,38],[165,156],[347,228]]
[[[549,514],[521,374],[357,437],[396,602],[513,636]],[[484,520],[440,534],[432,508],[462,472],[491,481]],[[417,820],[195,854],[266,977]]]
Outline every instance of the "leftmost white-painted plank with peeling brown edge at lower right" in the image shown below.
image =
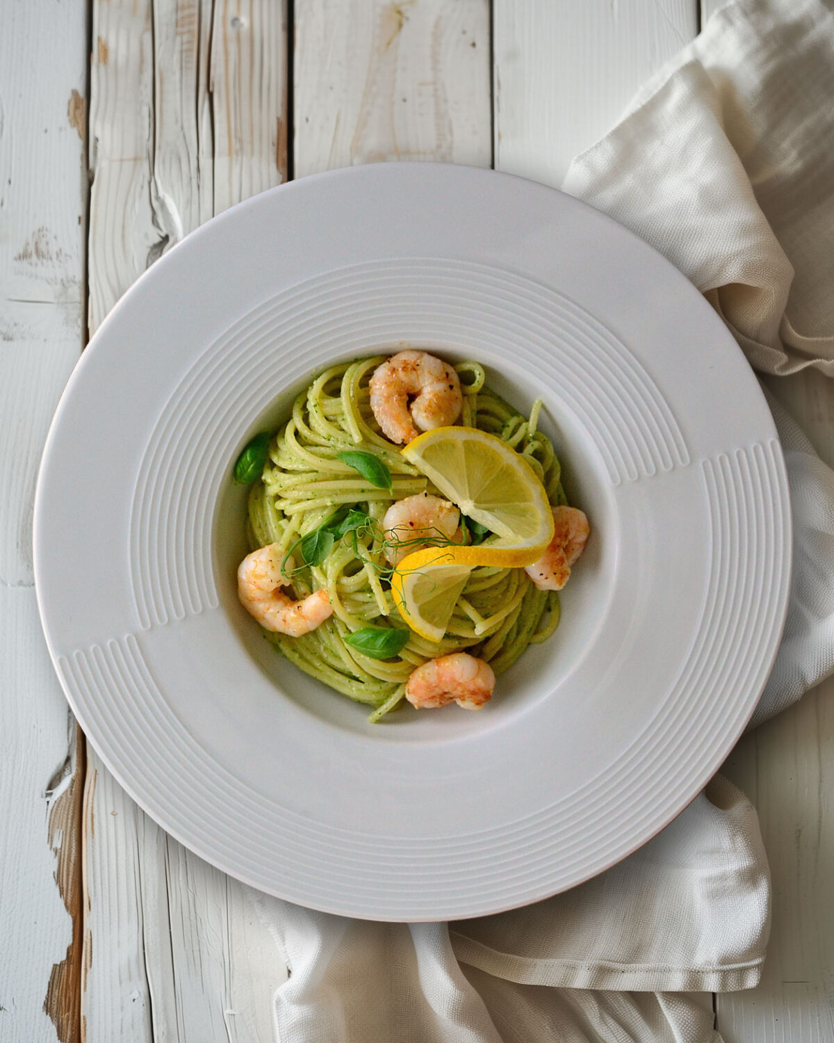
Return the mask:
[[[32,51],[48,76],[33,75]],[[83,760],[38,616],[34,485],[81,349],[83,0],[0,33],[0,1040],[79,1038]]]

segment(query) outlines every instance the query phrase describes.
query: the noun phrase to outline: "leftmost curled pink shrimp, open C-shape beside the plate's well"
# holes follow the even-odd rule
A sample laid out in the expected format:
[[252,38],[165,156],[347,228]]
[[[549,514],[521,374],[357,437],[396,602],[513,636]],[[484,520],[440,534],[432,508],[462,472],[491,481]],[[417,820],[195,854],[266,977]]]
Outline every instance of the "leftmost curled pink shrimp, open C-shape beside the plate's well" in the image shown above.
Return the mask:
[[[289,582],[281,572],[283,558],[277,543],[247,554],[238,568],[238,597],[265,630],[300,637],[333,615],[333,605],[326,590],[315,590],[303,601],[289,598],[280,589]],[[287,567],[294,567],[292,558]]]

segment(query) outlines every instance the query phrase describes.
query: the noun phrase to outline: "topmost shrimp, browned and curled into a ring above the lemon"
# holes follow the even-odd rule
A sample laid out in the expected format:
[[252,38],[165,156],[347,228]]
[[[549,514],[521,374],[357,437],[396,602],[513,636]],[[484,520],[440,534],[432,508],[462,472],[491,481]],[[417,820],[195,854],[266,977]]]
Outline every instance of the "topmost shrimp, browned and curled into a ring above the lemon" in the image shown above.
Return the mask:
[[392,355],[374,369],[370,390],[376,422],[398,445],[420,431],[455,423],[463,409],[457,372],[426,351]]

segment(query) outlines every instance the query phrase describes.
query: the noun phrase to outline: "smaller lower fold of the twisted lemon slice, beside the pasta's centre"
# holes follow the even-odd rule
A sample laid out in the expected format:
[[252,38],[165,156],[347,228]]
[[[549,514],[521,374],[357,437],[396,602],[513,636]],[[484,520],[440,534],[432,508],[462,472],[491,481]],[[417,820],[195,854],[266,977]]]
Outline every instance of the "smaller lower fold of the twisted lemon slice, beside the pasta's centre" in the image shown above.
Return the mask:
[[394,604],[411,629],[428,641],[446,632],[471,566],[449,560],[447,548],[428,547],[407,555],[391,577]]

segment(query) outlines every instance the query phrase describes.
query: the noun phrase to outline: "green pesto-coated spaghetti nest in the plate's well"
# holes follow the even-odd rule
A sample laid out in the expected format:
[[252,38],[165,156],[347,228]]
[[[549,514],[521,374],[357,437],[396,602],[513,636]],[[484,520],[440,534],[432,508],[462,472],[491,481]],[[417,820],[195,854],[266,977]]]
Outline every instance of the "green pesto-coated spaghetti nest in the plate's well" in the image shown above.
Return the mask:
[[[301,566],[292,572],[296,596],[325,588],[333,615],[303,636],[268,637],[306,674],[373,707],[371,721],[399,703],[409,675],[426,660],[465,649],[499,674],[559,624],[558,593],[538,589],[523,568],[481,566],[472,569],[439,642],[409,631],[404,647],[385,660],[346,642],[368,626],[406,626],[386,578],[390,567],[382,522],[394,501],[436,492],[381,433],[371,411],[368,383],[385,358],[332,366],[298,395],[292,417],[270,443],[262,481],[250,493],[248,515],[251,548],[277,543],[286,555],[303,537],[326,527],[340,509],[367,517],[336,540],[319,564],[304,565],[301,558]],[[566,503],[559,460],[550,440],[537,430],[541,403],[524,417],[485,386],[484,369],[476,362],[463,362],[456,369],[463,391],[460,422],[501,438],[536,471],[550,504]],[[339,458],[357,450],[372,453],[388,467],[390,489]]]

